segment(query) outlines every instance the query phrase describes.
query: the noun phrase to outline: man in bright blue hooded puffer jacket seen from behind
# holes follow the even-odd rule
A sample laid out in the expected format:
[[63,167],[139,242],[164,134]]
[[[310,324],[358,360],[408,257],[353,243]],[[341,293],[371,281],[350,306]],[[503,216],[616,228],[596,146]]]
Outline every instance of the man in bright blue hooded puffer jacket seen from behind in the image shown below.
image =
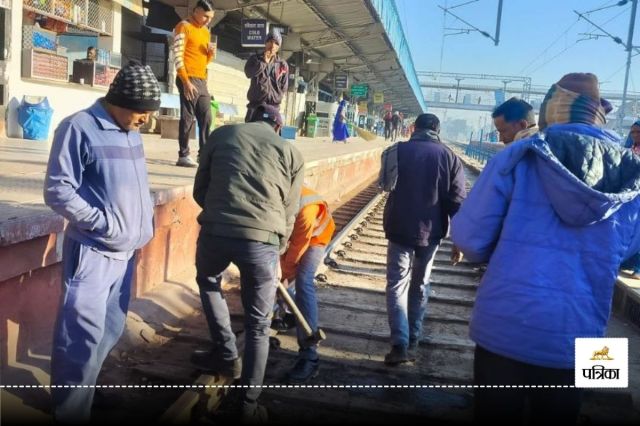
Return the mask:
[[[640,245],[640,158],[602,126],[593,74],[568,74],[540,110],[542,135],[485,167],[452,221],[465,256],[489,262],[470,335],[476,385],[574,384],[577,337],[602,337],[620,263]],[[579,389],[477,389],[476,420],[575,424]]]

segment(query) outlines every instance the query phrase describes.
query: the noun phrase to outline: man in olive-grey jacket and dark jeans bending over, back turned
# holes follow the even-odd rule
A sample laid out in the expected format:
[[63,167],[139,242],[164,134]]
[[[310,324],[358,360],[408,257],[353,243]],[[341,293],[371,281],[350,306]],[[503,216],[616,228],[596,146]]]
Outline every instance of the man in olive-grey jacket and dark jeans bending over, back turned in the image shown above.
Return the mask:
[[[293,230],[304,180],[302,155],[278,136],[280,127],[280,113],[266,105],[251,123],[215,130],[200,155],[193,188],[203,209],[196,279],[213,345],[191,360],[204,370],[240,378],[245,386],[264,380],[279,254]],[[231,262],[240,269],[245,312],[242,366],[221,287]],[[244,420],[264,417],[259,387],[236,395]]]

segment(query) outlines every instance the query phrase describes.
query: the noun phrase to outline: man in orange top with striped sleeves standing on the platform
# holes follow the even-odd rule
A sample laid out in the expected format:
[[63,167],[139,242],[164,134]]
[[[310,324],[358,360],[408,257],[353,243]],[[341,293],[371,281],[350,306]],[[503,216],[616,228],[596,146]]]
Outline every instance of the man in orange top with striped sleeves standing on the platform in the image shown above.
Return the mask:
[[198,121],[200,149],[207,142],[211,127],[211,95],[207,89],[207,65],[216,55],[210,42],[208,25],[214,11],[210,0],[199,0],[188,20],[173,30],[176,86],[180,92],[180,125],[178,133],[178,162],[180,167],[198,167],[189,156],[189,134],[194,117]]

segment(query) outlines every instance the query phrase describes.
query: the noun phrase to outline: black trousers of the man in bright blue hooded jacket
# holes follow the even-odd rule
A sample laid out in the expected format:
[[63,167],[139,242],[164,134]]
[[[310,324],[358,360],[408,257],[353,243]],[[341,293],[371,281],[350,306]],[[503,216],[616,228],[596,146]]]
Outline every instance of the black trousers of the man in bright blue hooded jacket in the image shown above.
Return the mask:
[[[476,346],[475,385],[573,385],[574,370],[525,364]],[[582,389],[515,388],[474,392],[475,422],[482,424],[575,424]],[[485,423],[487,422],[487,423]]]

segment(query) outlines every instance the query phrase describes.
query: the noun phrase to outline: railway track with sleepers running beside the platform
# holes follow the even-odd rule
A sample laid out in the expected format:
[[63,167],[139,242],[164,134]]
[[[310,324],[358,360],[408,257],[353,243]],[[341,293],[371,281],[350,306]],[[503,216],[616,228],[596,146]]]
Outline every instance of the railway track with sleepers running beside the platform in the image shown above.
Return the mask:
[[[465,173],[470,187],[477,173],[468,168]],[[424,337],[416,360],[397,367],[384,365],[384,355],[389,350],[384,294],[386,240],[382,227],[385,202],[386,196],[379,195],[370,185],[334,211],[338,233],[328,247],[317,280],[319,323],[328,336],[319,347],[320,375],[309,386],[282,387],[298,346],[295,330],[278,334],[277,345],[272,345],[269,353],[266,387],[261,396],[270,422],[471,421],[473,391],[468,386],[473,379],[474,344],[468,338],[468,328],[481,269],[465,260],[451,266],[452,246],[443,241],[431,275]],[[225,290],[232,327],[241,342],[239,282],[232,280]],[[616,318],[612,325],[618,334],[637,335]],[[127,390],[122,407],[128,412],[126,418],[219,423],[211,412],[224,397],[225,389],[219,386],[231,382],[203,375],[189,363],[193,349],[210,344],[203,316],[186,319],[167,338],[169,342],[161,347],[141,349],[120,363],[107,366],[111,368],[107,368],[106,382],[158,387],[151,391]],[[194,387],[185,390],[180,386]],[[603,409],[611,408],[607,401],[587,401],[584,411],[597,419]],[[118,421],[116,413],[120,411],[105,411],[103,420]],[[622,419],[629,418],[628,413],[615,409],[615,405],[610,411],[614,418]],[[633,414],[637,419],[637,412]]]

